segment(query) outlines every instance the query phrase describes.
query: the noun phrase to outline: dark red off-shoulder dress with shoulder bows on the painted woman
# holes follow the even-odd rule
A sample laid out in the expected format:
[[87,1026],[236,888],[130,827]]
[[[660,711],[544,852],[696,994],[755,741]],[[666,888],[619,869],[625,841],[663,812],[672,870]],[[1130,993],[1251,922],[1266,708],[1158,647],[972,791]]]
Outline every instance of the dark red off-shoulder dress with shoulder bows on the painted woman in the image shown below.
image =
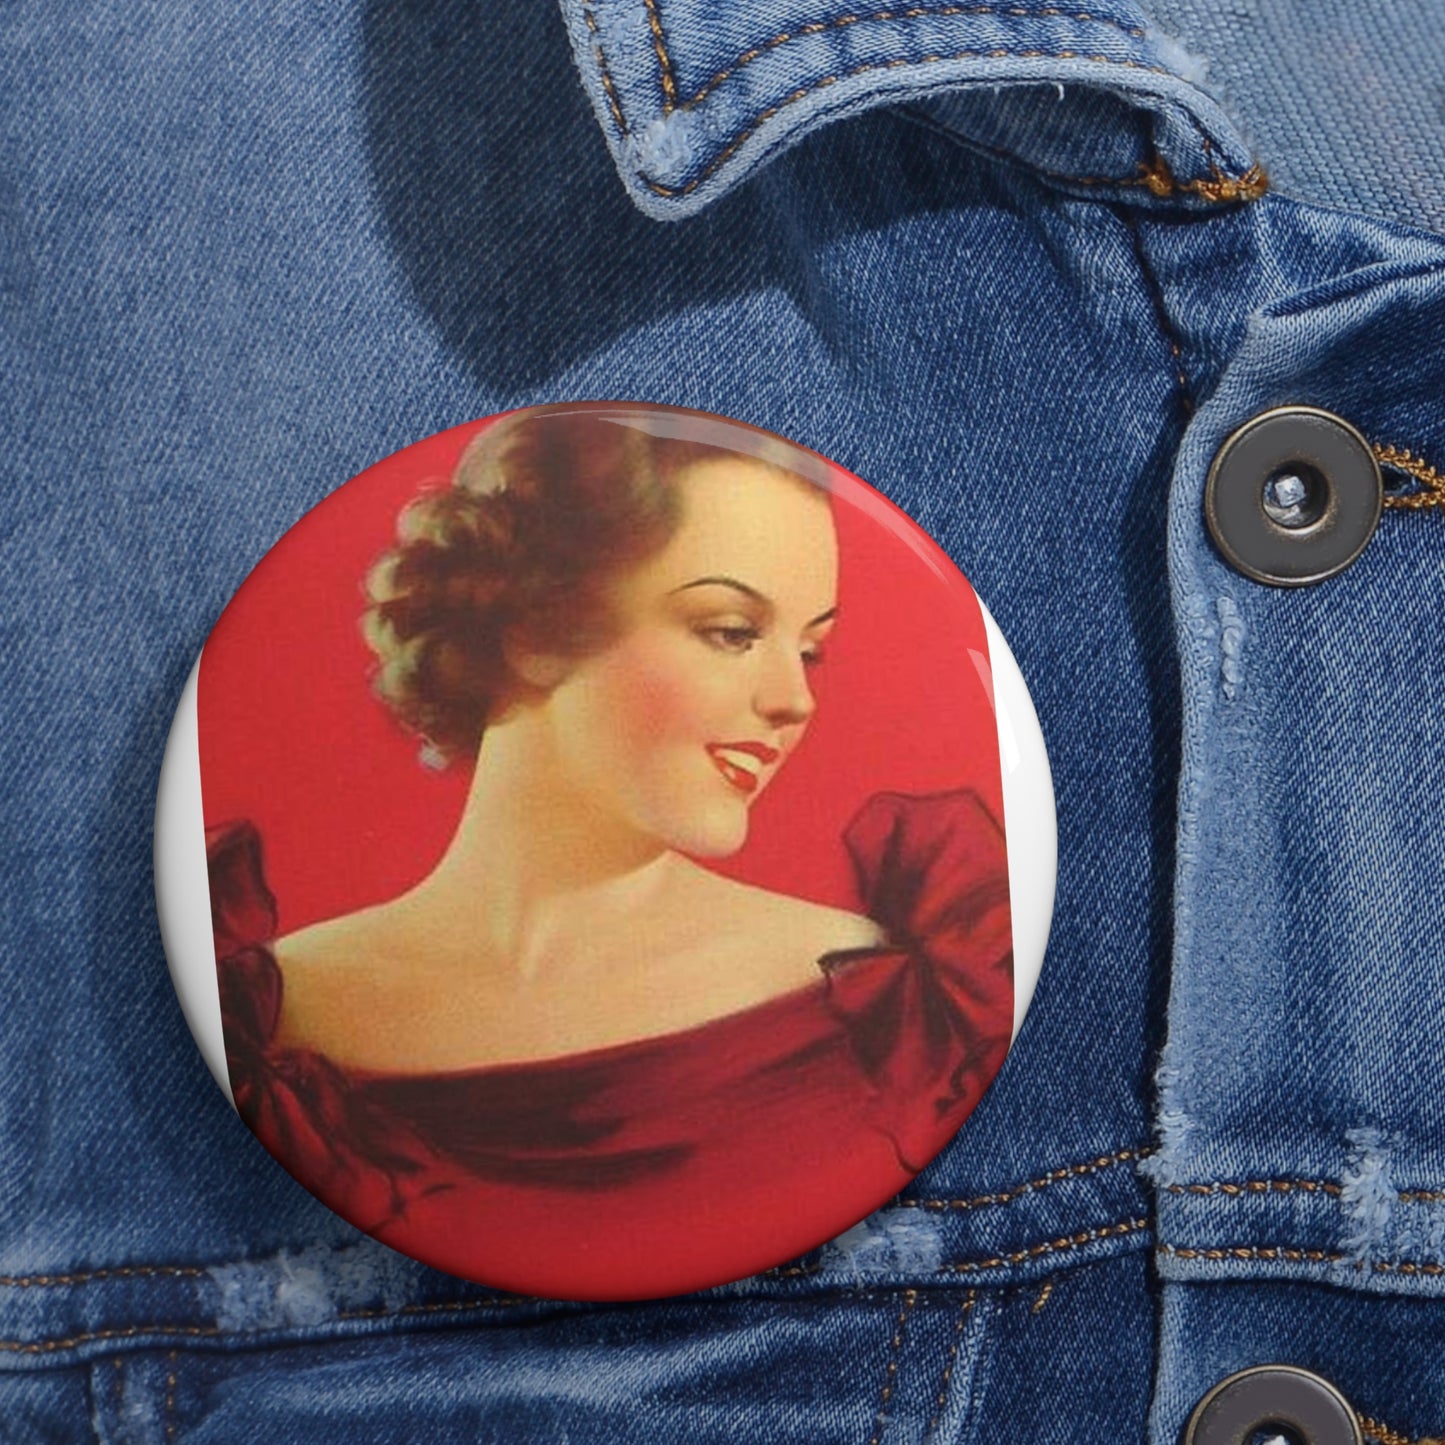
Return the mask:
[[249,824],[207,837],[236,1105],[316,1198],[436,1269],[562,1299],[779,1264],[890,1199],[1003,1062],[1003,829],[968,790],[870,799],[845,834],[887,942],[652,1039],[444,1074],[275,1043],[275,900]]

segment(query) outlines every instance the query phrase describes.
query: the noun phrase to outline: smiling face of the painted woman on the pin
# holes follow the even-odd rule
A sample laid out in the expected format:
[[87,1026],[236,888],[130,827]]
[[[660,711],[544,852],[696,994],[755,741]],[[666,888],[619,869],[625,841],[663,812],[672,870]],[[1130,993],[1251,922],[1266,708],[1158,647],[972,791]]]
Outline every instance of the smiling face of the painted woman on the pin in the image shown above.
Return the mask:
[[802,740],[837,605],[827,496],[749,458],[676,480],[682,522],[617,584],[617,640],[549,695],[569,786],[663,847],[725,857]]

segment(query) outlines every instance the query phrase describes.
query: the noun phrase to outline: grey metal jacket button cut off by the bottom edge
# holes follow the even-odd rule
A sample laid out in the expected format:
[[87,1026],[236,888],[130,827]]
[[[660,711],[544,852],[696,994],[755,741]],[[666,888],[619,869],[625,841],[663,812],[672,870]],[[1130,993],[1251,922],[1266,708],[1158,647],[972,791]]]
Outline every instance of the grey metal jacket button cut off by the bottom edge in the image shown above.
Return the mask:
[[1289,1445],[1364,1445],[1360,1422],[1328,1380],[1261,1364],[1221,1380],[1195,1407],[1183,1445],[1247,1445],[1277,1432]]

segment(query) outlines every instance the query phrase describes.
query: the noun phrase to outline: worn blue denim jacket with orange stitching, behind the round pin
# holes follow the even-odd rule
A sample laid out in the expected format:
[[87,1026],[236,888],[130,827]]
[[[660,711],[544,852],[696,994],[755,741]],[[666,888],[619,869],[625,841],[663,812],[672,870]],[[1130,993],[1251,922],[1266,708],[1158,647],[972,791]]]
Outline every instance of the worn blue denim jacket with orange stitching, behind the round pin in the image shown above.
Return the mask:
[[[714,10],[0,14],[0,1439],[1165,1445],[1264,1360],[1445,1426],[1442,519],[1290,592],[1201,520],[1280,402],[1445,468],[1445,240],[1263,194],[1129,4]],[[247,569],[367,462],[577,396],[785,432],[932,530],[1061,822],[957,1143],[796,1266],[626,1308],[293,1185],[150,894]]]

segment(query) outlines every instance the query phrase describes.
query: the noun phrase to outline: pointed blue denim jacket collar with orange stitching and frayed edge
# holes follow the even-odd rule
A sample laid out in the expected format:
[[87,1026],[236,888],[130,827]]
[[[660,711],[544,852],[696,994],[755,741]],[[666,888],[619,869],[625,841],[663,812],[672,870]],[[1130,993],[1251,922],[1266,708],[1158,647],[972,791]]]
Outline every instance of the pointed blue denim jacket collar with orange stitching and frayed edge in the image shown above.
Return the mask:
[[1207,207],[1264,178],[1202,66],[1131,4],[562,0],[618,173],[691,215],[811,131],[909,105],[1090,195]]

